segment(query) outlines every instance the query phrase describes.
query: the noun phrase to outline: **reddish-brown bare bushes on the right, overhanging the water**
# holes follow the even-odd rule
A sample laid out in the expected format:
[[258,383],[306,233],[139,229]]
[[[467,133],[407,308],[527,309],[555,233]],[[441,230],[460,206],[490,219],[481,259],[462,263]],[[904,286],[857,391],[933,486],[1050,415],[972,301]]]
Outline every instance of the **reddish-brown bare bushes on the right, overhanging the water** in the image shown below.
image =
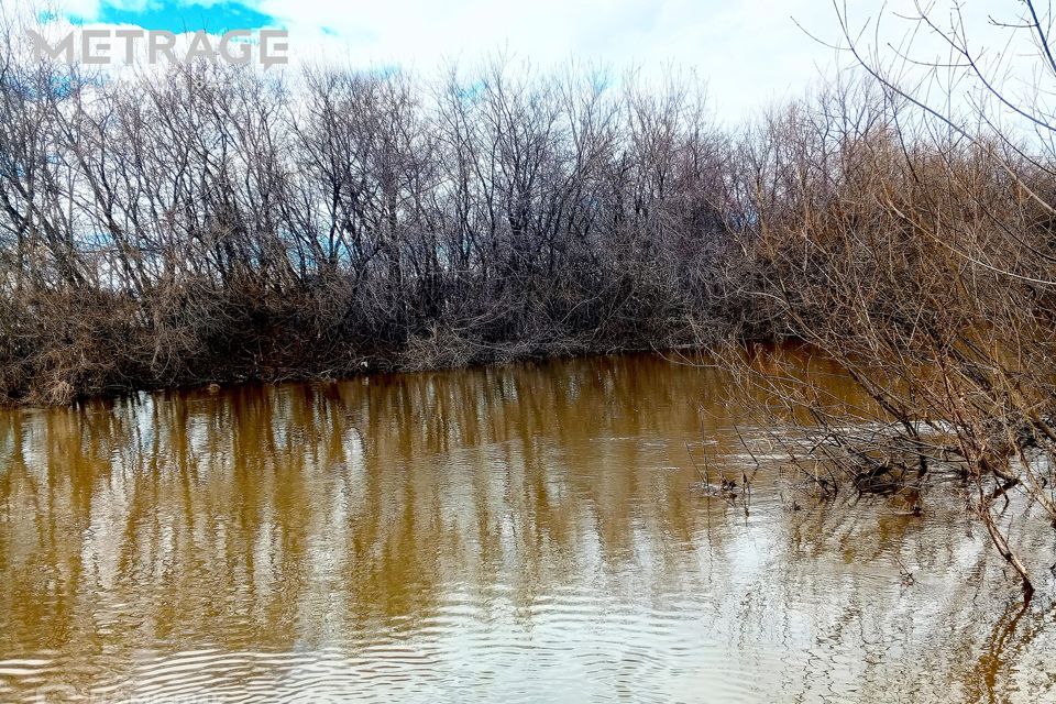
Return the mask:
[[770,329],[871,403],[848,405],[780,349],[728,369],[767,391],[767,457],[783,450],[811,492],[899,493],[923,513],[923,490],[953,480],[1030,597],[1040,565],[1012,528],[1056,526],[1053,161],[994,135],[909,143],[884,119],[846,133],[826,106],[771,122],[788,178],[757,191],[777,197],[737,237]]

